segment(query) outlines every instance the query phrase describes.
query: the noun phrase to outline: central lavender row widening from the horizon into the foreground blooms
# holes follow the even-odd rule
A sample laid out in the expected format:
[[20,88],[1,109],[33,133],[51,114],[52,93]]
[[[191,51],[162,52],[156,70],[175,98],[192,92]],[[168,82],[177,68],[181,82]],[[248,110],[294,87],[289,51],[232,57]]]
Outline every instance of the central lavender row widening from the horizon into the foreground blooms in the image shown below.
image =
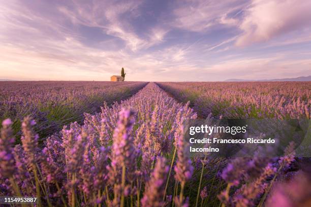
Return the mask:
[[[190,159],[182,121],[195,119],[154,83],[133,97],[72,123],[38,147],[35,120],[14,146],[11,120],[0,140],[0,195],[38,197],[38,206],[273,206],[305,202],[310,184],[272,184],[294,161],[290,145],[276,159]],[[298,185],[299,184],[299,185]],[[301,185],[300,185],[301,184]],[[299,191],[300,190],[300,191]],[[272,193],[269,193],[272,192]],[[300,193],[300,194],[299,194]],[[267,200],[267,201],[266,201]]]

